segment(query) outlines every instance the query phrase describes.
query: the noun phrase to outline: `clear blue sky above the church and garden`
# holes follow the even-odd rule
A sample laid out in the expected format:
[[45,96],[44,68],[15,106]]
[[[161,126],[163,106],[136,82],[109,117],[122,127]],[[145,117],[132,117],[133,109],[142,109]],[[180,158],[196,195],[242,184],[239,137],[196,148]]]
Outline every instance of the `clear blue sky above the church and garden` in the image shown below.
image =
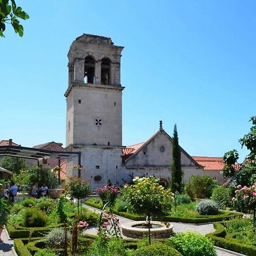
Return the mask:
[[111,37],[122,54],[123,145],[146,141],[159,120],[191,155],[237,148],[256,115],[255,1],[21,1],[30,15],[1,46],[0,139],[65,145],[69,46]]

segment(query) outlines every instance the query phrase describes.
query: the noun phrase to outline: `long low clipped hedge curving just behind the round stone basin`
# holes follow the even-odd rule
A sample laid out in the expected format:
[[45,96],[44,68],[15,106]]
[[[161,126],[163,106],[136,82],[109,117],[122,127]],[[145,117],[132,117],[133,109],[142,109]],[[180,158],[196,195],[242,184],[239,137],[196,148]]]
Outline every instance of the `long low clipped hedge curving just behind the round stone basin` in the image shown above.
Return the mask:
[[[85,202],[86,205],[89,205],[90,207],[94,207],[101,210],[101,205],[95,204],[90,201]],[[163,216],[160,218],[161,221],[168,221],[168,222],[184,222],[184,223],[192,223],[192,224],[200,224],[200,223],[206,223],[206,222],[219,222],[223,220],[229,220],[230,218],[243,216],[242,213],[234,213],[229,212],[227,210],[220,210],[222,214],[219,215],[210,215],[210,216],[203,216],[199,218],[186,218],[186,217],[175,217],[175,216]],[[119,216],[122,216],[124,218],[130,218],[130,220],[135,221],[141,221],[145,220],[145,216],[141,216],[134,213],[128,213],[128,212],[118,212],[117,210],[114,210],[114,214],[117,214]]]

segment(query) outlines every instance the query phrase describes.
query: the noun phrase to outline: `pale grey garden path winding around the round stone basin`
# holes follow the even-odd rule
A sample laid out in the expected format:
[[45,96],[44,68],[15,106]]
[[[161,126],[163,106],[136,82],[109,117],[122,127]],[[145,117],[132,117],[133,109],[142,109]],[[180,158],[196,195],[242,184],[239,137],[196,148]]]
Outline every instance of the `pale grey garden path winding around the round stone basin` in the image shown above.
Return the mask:
[[[95,213],[101,213],[102,211],[93,207],[90,207],[89,205],[84,205],[85,208],[89,209],[92,212]],[[121,216],[118,216],[119,218],[119,224],[133,221],[130,220],[129,218],[124,218]],[[214,232],[213,224],[200,224],[200,225],[195,225],[195,224],[187,224],[187,223],[181,223],[181,222],[170,222],[172,225],[174,225],[174,232],[186,232],[186,231],[194,231],[200,234],[208,234]],[[97,235],[97,227],[92,226],[91,228],[86,229],[85,231],[86,234],[93,234]],[[127,238],[126,236],[122,236],[123,238]],[[234,253],[233,251],[228,251],[221,249],[219,247],[216,247],[217,250],[217,255],[218,256],[234,256],[234,255],[242,255],[242,254],[237,254]]]

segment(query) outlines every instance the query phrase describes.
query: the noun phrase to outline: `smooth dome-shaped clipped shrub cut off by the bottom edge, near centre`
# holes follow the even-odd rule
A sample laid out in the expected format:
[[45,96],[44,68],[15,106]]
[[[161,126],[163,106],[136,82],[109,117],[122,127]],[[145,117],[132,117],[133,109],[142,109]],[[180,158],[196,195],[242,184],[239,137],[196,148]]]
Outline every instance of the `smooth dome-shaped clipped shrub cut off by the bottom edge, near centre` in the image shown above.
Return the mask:
[[179,251],[162,243],[154,243],[137,249],[133,256],[182,256]]

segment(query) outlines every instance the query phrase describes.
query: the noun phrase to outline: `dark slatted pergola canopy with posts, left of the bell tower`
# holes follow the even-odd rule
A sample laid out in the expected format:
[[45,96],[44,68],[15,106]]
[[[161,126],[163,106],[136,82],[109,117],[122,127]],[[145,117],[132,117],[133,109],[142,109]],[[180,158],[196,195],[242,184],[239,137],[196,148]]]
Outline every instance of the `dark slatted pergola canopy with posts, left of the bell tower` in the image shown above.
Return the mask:
[[[26,158],[26,159],[35,159],[39,162],[43,162],[43,159],[59,159],[59,166],[60,166],[60,159],[67,158],[70,155],[77,155],[78,156],[78,164],[81,165],[81,152],[74,152],[74,151],[55,151],[55,150],[44,150],[41,148],[34,148],[34,147],[22,147],[22,146],[0,146],[0,157],[1,156],[14,156],[18,158]],[[78,170],[78,176],[81,177],[81,169]],[[60,184],[60,171],[59,171],[59,184]]]

